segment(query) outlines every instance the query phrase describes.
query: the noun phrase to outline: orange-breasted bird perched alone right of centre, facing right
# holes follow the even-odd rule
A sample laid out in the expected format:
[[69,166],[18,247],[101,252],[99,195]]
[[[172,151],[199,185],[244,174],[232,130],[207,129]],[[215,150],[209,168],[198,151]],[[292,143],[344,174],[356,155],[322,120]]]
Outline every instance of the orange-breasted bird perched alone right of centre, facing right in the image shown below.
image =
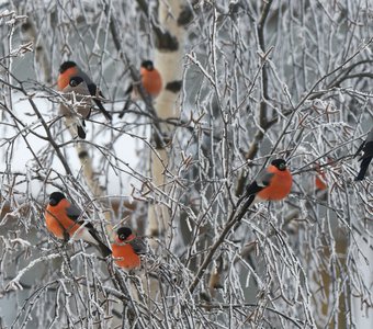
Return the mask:
[[275,159],[259,172],[257,179],[247,188],[247,206],[262,201],[279,201],[287,196],[292,189],[293,177],[283,159]]

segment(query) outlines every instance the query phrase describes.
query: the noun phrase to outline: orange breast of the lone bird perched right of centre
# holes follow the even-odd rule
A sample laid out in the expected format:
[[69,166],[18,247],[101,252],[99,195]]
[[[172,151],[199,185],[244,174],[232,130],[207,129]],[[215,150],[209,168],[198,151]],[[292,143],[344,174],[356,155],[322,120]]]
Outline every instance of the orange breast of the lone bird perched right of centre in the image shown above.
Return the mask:
[[271,179],[271,183],[258,193],[258,196],[263,200],[282,200],[287,196],[292,190],[293,177],[291,172],[286,170],[279,170],[274,166],[270,166],[268,171],[274,173]]

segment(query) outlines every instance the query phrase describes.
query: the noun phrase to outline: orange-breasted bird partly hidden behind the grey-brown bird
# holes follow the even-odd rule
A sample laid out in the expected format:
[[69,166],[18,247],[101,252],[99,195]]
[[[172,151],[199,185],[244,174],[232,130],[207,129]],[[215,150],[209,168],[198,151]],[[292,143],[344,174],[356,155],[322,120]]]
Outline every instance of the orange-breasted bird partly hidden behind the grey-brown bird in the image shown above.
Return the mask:
[[97,98],[98,95],[103,97],[101,91],[99,91],[98,87],[94,84],[94,82],[92,82],[90,77],[88,77],[77,66],[75,61],[71,61],[71,60],[65,61],[59,67],[59,75],[58,75],[58,80],[57,80],[58,90],[64,90],[70,83],[70,79],[72,77],[80,77],[86,81],[88,90],[91,97],[93,97],[94,103],[99,106],[100,111],[108,120],[112,120],[111,114],[103,107],[101,101]]

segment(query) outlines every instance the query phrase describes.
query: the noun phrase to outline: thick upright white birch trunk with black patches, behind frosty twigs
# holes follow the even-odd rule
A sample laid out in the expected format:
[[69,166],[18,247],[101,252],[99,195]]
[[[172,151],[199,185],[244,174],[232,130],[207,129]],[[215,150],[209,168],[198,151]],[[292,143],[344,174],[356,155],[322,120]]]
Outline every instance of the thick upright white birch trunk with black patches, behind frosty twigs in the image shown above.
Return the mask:
[[[155,109],[160,120],[179,118],[180,109],[178,95],[182,82],[183,42],[185,24],[191,15],[184,0],[159,1],[158,19],[162,33],[156,34],[155,65],[161,73],[163,89],[157,98]],[[161,124],[161,132],[166,140],[172,139],[172,128]],[[158,145],[157,155],[151,155],[151,173],[154,184],[168,193],[166,169],[169,167],[167,144]],[[156,196],[161,197],[162,196]],[[151,204],[148,215],[148,235],[165,238],[169,225],[169,209],[167,200]]]

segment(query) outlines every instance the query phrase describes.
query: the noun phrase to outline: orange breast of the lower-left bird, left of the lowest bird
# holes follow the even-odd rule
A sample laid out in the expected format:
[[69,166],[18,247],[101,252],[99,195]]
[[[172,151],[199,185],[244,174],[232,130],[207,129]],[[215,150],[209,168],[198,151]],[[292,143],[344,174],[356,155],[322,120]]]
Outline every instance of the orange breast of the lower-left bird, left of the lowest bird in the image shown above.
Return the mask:
[[68,206],[68,202],[63,200],[56,206],[48,205],[45,211],[46,227],[58,239],[64,239],[66,234],[72,236],[80,227],[66,215]]

